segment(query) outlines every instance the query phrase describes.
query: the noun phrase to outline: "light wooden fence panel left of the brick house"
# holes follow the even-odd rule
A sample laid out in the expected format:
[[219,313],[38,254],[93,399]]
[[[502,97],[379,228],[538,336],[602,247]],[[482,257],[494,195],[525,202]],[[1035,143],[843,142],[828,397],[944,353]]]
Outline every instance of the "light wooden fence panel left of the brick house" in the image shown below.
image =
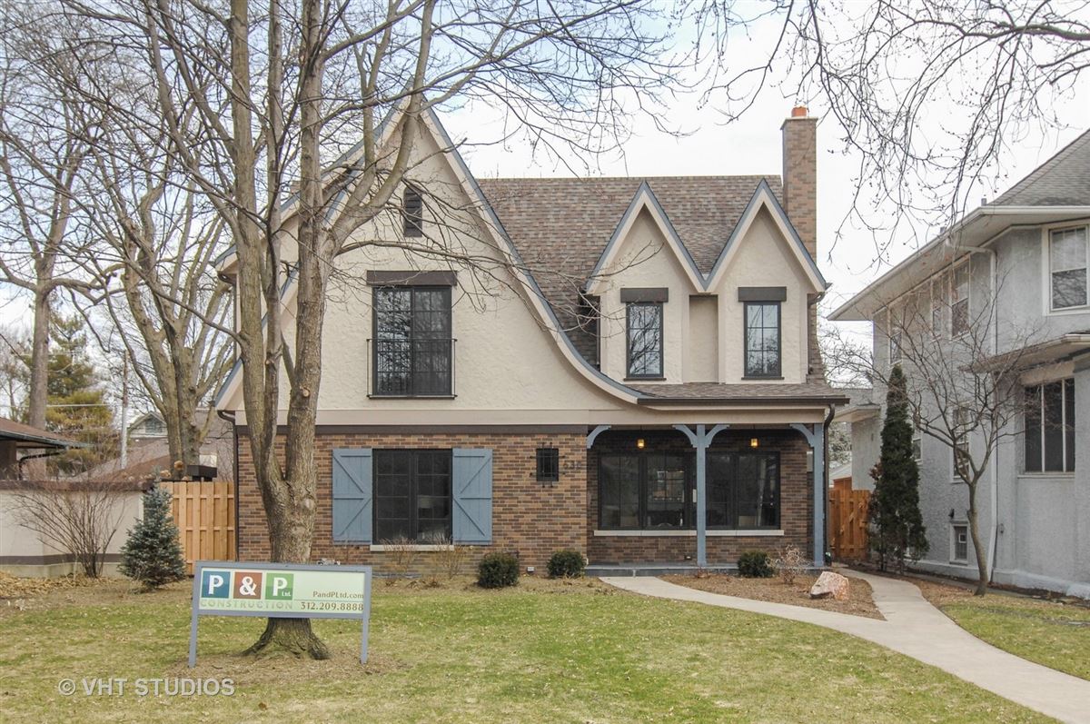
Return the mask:
[[234,560],[234,485],[226,481],[161,483],[182,539],[185,568],[195,560]]

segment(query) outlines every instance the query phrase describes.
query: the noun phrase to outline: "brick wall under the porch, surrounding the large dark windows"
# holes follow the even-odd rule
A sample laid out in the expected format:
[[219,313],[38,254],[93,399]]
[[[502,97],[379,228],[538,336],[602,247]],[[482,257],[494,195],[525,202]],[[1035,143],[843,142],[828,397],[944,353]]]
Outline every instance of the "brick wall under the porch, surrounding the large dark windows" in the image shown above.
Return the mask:
[[[692,446],[681,433],[641,432],[603,433],[588,455],[586,475],[586,540],[592,563],[695,563],[697,538],[691,536],[608,536],[594,535],[598,524],[598,455],[606,450],[632,450],[635,437],[643,437],[647,449],[691,451]],[[738,562],[743,551],[774,553],[795,545],[812,557],[813,508],[810,496],[810,474],[807,472],[807,450],[810,446],[795,431],[731,432],[716,435],[712,449],[748,450],[750,438],[760,439],[761,450],[779,452],[779,515],[782,536],[708,536],[707,562],[727,565]]]

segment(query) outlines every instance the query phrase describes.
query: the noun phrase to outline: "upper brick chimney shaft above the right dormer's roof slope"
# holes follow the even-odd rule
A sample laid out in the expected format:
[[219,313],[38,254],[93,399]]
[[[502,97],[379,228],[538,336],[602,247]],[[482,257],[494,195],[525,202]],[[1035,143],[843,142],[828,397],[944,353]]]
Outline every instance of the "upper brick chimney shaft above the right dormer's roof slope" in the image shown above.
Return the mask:
[[813,260],[818,260],[818,119],[806,106],[791,109],[784,134],[784,210]]

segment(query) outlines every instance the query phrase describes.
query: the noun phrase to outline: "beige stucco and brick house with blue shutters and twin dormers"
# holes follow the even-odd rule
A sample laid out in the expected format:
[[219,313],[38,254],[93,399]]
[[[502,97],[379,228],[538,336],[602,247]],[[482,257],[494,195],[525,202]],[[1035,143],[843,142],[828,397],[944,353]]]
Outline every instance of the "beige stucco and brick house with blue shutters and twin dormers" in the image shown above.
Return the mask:
[[[784,122],[783,185],[477,180],[428,114],[402,217],[338,258],[314,559],[382,566],[388,541],[438,535],[538,568],[559,548],[729,566],[784,545],[820,565],[824,430],[846,398],[816,353],[815,130],[806,109]],[[366,243],[402,237],[486,269]],[[269,542],[241,376],[217,405],[237,421],[239,557],[255,560]]]

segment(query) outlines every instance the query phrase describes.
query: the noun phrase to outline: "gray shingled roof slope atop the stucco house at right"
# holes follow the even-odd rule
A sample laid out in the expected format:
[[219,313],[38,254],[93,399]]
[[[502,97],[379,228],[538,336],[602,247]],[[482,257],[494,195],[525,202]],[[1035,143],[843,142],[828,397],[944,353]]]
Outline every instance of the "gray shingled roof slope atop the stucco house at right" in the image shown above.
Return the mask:
[[1090,131],[992,202],[1000,206],[1090,205]]

